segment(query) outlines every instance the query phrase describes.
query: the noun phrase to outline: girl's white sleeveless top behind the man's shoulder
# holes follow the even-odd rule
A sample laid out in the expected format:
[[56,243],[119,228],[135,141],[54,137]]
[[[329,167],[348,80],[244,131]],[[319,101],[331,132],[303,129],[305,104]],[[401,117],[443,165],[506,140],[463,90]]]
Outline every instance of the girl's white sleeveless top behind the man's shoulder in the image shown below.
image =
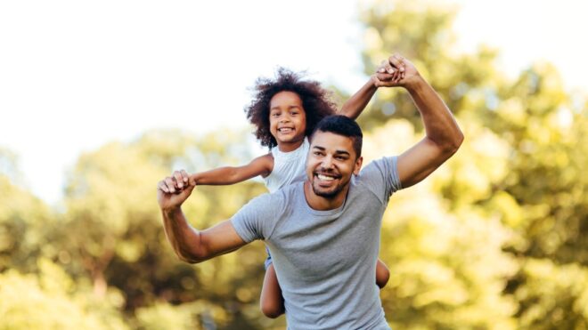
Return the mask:
[[265,177],[265,187],[274,192],[295,182],[306,181],[306,156],[310,143],[305,137],[296,150],[282,152],[278,147],[272,149],[274,169]]

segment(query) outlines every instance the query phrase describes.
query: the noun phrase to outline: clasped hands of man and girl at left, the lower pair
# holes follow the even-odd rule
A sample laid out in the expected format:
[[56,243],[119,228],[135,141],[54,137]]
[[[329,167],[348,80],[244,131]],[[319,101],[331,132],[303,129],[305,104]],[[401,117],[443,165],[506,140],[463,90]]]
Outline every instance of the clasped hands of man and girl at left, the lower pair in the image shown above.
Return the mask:
[[184,170],[172,173],[172,176],[157,184],[157,201],[161,210],[172,210],[180,207],[190,197],[196,187],[196,181]]

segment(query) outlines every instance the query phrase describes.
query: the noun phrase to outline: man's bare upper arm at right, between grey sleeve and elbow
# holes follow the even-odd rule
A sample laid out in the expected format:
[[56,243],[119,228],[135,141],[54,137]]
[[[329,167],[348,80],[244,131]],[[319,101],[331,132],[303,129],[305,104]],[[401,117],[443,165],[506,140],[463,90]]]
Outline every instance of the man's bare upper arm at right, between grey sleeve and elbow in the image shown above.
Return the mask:
[[437,144],[424,138],[398,156],[398,178],[403,188],[410,187],[433,173],[451,155],[446,155]]

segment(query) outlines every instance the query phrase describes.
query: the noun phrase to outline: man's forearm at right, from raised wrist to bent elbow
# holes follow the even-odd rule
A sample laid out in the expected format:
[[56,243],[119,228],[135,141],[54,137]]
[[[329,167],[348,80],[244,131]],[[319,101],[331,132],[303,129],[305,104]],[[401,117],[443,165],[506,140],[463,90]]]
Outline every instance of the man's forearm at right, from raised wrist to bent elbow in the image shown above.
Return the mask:
[[421,112],[427,138],[444,150],[457,150],[463,141],[463,133],[453,114],[433,87],[419,77],[405,88]]

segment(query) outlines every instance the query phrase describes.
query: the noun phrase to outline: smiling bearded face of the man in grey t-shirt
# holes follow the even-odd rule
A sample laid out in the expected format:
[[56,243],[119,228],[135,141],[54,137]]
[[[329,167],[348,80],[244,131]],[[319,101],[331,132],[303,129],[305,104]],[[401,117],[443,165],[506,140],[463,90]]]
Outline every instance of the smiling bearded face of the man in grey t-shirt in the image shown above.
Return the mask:
[[359,173],[361,167],[362,157],[356,158],[352,139],[329,132],[314,133],[306,174],[315,195],[333,198],[347,194],[351,175]]

